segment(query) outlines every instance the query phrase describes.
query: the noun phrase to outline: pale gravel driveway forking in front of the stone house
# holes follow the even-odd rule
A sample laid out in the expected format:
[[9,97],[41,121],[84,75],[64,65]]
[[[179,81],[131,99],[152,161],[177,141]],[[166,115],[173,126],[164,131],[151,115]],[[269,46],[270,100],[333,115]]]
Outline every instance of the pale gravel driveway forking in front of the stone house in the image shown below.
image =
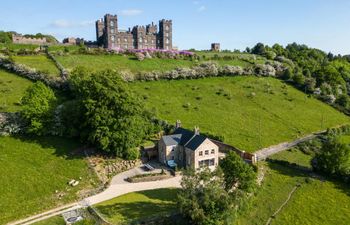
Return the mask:
[[111,185],[103,192],[88,197],[80,202],[75,202],[72,204],[64,205],[22,220],[11,222],[8,225],[27,225],[33,224],[38,221],[48,219],[53,216],[60,215],[64,212],[71,211],[78,208],[83,208],[87,204],[94,205],[112,198],[130,193],[135,191],[144,191],[144,190],[153,190],[158,188],[179,188],[181,182],[181,176],[173,177],[161,181],[151,181],[151,182],[142,182],[142,183],[128,183],[125,181],[125,178],[130,175],[139,174],[139,168],[134,168],[129,171],[120,173],[113,177]]

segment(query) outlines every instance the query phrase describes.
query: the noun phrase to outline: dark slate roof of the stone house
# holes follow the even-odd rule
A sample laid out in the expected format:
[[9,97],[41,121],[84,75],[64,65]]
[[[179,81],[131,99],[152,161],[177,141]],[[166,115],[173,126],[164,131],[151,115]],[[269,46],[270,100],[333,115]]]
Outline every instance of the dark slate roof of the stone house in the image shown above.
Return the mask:
[[162,139],[166,146],[182,145],[195,151],[207,139],[207,137],[196,135],[193,131],[180,127],[174,131],[174,134],[163,136]]

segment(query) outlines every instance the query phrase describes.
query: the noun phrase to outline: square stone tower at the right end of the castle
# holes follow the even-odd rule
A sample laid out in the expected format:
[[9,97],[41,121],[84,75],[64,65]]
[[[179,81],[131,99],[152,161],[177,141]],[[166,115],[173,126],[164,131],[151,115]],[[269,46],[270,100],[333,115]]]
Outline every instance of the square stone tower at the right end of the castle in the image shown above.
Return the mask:
[[159,21],[159,33],[157,48],[171,50],[173,49],[173,22],[172,20]]

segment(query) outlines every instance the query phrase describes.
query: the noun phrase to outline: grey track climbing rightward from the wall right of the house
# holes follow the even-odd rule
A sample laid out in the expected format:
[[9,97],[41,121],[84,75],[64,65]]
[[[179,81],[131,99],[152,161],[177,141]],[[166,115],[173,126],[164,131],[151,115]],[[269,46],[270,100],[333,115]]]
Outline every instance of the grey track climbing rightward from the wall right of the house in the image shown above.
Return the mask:
[[295,141],[292,141],[292,142],[283,142],[283,143],[278,144],[278,145],[274,145],[274,146],[270,146],[270,147],[267,147],[267,148],[263,148],[263,149],[255,152],[256,160],[257,161],[265,160],[267,157],[269,157],[271,155],[274,155],[274,154],[279,153],[281,151],[284,151],[284,150],[290,149],[292,147],[295,147],[296,145],[298,145],[300,143],[303,143],[303,142],[309,141],[311,139],[314,139],[319,134],[320,133],[310,134],[310,135],[307,135],[305,137],[299,138],[299,139],[297,139]]

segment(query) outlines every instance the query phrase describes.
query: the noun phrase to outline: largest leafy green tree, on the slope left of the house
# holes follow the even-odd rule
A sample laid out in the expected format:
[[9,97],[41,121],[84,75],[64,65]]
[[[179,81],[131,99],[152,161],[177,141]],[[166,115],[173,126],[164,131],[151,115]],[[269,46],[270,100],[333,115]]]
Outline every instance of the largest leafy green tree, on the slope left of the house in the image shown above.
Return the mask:
[[129,86],[115,72],[82,69],[70,83],[83,112],[82,137],[118,157],[137,158],[135,148],[153,132],[152,115]]

